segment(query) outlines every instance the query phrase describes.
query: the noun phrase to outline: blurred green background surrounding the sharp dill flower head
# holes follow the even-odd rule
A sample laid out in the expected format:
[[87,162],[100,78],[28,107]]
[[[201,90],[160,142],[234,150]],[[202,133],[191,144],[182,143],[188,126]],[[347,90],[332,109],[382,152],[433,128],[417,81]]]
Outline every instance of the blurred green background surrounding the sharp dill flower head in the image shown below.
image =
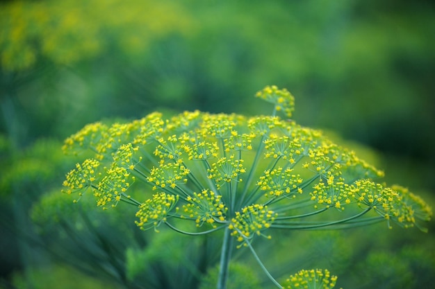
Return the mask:
[[[265,85],[295,95],[297,123],[346,139],[434,207],[434,16],[432,1],[0,1],[0,286],[199,288],[206,272],[195,268],[213,268],[216,240],[184,240],[186,256],[158,259],[165,236],[138,231],[129,209],[77,210],[59,193],[76,161],[60,146],[86,123],[155,110],[269,114],[253,98]],[[294,232],[261,255],[279,276],[320,263],[338,286],[396,277],[382,288],[424,288],[435,274],[429,227]],[[288,253],[290,243],[308,245]],[[242,264],[236,274],[252,276]],[[191,277],[165,283],[174,274]]]

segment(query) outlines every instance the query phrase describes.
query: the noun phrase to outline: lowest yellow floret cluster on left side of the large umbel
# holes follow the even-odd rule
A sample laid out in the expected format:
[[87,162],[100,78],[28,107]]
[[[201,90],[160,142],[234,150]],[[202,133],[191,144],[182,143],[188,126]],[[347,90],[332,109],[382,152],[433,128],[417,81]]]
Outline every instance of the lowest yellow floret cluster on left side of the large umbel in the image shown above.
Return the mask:
[[168,213],[174,209],[178,200],[178,195],[154,194],[151,199],[139,206],[139,211],[136,213],[139,220],[136,221],[136,225],[140,229],[146,230],[154,227],[154,230],[158,231],[157,227],[166,221]]

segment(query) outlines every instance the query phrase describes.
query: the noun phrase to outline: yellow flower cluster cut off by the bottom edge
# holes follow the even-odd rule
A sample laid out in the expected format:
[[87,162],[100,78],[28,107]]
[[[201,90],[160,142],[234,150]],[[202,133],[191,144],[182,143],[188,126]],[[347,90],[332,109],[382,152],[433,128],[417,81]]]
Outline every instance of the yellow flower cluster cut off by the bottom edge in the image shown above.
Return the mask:
[[336,286],[337,277],[328,270],[301,270],[286,279],[286,289],[331,289]]

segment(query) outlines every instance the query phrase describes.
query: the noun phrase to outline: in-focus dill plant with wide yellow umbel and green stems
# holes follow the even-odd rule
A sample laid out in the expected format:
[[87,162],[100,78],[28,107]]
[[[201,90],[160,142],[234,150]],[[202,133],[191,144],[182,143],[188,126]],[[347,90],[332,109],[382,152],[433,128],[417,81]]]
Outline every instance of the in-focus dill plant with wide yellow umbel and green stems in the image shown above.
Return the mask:
[[386,222],[425,230],[420,222],[429,221],[431,208],[402,186],[377,182],[384,173],[352,150],[288,119],[294,98],[286,89],[268,86],[256,97],[272,103],[270,116],[195,111],[163,119],[154,112],[129,123],[86,125],[63,150],[93,156],[66,175],[63,191],[76,201],[93,193],[103,209],[136,206],[143,230],[223,231],[217,289],[227,288],[233,249],[243,248],[278,288],[335,286],[326,269],[302,270],[281,283],[272,277],[254,248],[256,238],[272,238],[272,229]]

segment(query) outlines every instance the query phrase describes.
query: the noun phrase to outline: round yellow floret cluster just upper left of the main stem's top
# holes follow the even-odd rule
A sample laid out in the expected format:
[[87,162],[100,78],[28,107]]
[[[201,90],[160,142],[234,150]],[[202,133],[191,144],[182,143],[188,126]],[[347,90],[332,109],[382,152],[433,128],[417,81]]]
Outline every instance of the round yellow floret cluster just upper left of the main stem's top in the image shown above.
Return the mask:
[[186,218],[195,219],[197,227],[206,222],[216,228],[215,222],[224,222],[223,214],[228,209],[220,201],[221,198],[222,195],[216,195],[207,189],[201,193],[193,193],[192,197],[187,197],[188,203],[183,205],[183,213],[186,213]]

